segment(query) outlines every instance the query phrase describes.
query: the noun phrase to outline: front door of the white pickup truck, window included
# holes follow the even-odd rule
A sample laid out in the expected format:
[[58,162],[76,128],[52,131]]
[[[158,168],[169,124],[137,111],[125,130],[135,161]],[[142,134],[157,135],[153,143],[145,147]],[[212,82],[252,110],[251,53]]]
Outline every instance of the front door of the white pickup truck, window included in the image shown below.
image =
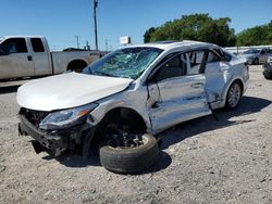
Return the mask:
[[25,38],[9,38],[1,43],[1,78],[34,76],[34,64]]

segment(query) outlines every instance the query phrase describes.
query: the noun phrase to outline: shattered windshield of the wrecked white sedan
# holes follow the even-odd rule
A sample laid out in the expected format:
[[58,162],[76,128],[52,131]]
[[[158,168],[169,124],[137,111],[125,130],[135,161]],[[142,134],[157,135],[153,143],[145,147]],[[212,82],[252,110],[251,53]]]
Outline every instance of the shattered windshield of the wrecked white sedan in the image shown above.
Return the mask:
[[124,48],[89,65],[83,74],[136,79],[161,52],[158,48]]

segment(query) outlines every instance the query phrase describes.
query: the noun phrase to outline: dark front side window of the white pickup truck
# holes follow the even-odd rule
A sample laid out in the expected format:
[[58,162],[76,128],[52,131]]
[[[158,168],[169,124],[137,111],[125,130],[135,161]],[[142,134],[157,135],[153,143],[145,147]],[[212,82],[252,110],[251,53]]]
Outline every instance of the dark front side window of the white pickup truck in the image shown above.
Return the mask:
[[10,38],[2,43],[2,49],[7,54],[27,52],[24,38]]

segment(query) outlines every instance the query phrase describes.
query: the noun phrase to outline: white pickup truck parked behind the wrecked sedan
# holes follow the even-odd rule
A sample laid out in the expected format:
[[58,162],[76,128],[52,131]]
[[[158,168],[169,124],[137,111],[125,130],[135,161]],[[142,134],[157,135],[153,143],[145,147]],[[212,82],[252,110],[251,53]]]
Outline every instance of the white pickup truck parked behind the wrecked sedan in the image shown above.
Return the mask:
[[81,72],[99,59],[99,51],[50,52],[41,36],[7,36],[0,38],[0,80]]

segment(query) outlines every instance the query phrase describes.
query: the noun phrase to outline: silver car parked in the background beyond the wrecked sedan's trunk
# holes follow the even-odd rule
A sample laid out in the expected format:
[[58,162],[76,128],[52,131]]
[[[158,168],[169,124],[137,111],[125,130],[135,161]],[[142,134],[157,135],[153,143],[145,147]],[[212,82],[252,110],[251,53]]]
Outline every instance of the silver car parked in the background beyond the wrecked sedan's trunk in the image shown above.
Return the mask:
[[249,49],[245,51],[240,58],[245,58],[248,64],[264,64],[268,61],[268,56],[272,56],[271,49]]

